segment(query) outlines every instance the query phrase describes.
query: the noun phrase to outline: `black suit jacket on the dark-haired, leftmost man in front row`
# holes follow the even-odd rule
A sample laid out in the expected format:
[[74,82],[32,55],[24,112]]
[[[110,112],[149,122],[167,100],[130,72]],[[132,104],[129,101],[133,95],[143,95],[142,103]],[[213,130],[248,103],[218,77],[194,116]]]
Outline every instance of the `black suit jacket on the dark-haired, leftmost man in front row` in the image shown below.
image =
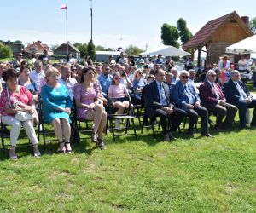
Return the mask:
[[[163,89],[166,94],[167,106],[172,106],[170,102],[170,90],[166,83],[163,83]],[[154,117],[154,111],[160,109],[163,105],[160,103],[160,95],[157,87],[156,81],[149,84],[147,93],[146,93],[146,107],[147,113],[150,118]]]

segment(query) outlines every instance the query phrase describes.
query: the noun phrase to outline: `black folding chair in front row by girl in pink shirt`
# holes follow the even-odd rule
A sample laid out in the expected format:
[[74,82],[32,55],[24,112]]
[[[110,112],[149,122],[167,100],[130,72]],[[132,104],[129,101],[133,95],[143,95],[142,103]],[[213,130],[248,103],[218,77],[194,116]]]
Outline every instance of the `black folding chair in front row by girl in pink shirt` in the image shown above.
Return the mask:
[[[129,107],[125,109],[125,112],[123,114],[115,114],[117,112],[117,108],[113,107],[113,102],[116,101],[129,101]],[[124,97],[124,98],[110,98],[108,97],[108,106],[107,106],[107,113],[108,113],[108,119],[107,119],[107,127],[108,127],[108,121],[110,123],[110,128],[113,134],[113,141],[115,141],[116,136],[121,136],[121,135],[134,135],[135,138],[137,138],[137,133],[136,133],[136,128],[134,124],[134,118],[136,118],[134,115],[131,115],[131,98],[130,96]],[[115,134],[116,128],[113,127],[113,120],[122,120],[126,119],[126,125],[125,125],[125,133],[121,134],[119,133],[118,135]],[[133,133],[128,133],[128,127],[130,124],[133,126]]]

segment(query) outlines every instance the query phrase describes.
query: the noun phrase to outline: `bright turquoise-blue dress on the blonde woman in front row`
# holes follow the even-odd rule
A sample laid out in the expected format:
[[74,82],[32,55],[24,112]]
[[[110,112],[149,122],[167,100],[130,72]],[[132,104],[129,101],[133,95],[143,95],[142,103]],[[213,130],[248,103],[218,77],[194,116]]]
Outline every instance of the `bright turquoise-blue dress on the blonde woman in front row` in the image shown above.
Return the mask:
[[45,84],[41,89],[41,98],[43,101],[43,115],[44,120],[47,123],[51,123],[55,118],[68,118],[67,112],[61,112],[58,108],[70,108],[72,107],[72,101],[68,95],[67,88],[59,84],[59,87],[52,88],[48,84]]

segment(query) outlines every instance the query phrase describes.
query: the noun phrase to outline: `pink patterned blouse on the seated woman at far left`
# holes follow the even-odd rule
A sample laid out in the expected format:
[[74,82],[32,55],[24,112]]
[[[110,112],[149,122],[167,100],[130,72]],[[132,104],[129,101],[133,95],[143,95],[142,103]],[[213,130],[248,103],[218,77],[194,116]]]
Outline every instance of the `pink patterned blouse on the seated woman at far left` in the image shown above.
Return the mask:
[[[0,114],[2,116],[10,115],[10,116],[15,116],[15,114],[8,114],[4,111],[5,106],[9,106],[9,100],[8,100],[8,95],[7,95],[7,89],[3,89],[1,97],[0,97]],[[20,101],[23,104],[29,106],[32,104],[33,101],[33,95],[31,92],[26,89],[26,87],[20,86],[20,95],[13,94],[12,92],[9,91],[9,98],[10,98],[10,104],[11,106],[14,105],[15,102]]]

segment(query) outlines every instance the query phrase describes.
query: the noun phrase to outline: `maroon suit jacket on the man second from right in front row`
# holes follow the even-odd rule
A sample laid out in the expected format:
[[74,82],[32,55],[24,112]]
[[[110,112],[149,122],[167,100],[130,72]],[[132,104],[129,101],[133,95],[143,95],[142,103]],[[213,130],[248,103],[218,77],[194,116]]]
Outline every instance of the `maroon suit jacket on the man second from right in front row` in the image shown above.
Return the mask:
[[[219,84],[214,83],[214,87],[218,90],[218,95],[220,96],[220,99],[224,99],[225,96]],[[201,98],[201,105],[203,107],[206,107],[207,109],[211,110],[218,104],[217,95],[214,89],[212,89],[212,85],[207,81],[201,83],[199,87],[199,96]]]

